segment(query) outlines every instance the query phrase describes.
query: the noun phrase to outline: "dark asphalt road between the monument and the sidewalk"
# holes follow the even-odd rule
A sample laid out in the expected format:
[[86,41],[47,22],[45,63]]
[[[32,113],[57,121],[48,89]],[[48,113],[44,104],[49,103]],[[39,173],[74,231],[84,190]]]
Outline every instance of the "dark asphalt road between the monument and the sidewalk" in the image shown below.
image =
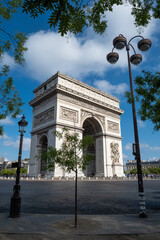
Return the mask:
[[[9,213],[14,181],[0,180],[0,213]],[[160,212],[160,180],[144,181],[147,213]],[[74,181],[21,181],[21,212],[73,214]],[[79,181],[78,214],[139,212],[137,181]]]

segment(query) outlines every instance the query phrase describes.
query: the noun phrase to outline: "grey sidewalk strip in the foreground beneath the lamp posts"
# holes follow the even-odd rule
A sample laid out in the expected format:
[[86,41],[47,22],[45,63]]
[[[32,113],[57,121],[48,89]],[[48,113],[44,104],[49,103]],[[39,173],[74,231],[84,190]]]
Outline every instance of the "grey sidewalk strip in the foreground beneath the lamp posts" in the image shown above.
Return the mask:
[[74,215],[21,214],[8,218],[0,214],[1,240],[159,240],[160,214],[146,219],[128,215],[79,215],[74,227]]

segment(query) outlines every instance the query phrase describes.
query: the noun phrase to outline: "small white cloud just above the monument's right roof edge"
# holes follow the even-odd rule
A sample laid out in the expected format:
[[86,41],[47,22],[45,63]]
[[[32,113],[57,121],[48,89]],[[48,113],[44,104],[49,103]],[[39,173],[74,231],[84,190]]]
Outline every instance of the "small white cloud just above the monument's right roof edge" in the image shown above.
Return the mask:
[[95,81],[94,85],[96,88],[111,95],[123,95],[124,92],[128,90],[128,85],[126,83],[112,85],[106,80]]

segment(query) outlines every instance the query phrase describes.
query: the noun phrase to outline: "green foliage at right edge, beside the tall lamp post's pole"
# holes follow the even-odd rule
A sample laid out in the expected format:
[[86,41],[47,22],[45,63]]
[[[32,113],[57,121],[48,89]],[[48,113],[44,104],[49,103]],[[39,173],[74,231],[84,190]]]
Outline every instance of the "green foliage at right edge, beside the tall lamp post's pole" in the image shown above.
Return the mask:
[[143,76],[135,78],[136,101],[140,104],[138,111],[141,120],[152,121],[154,130],[160,129],[160,72],[155,74],[142,71]]

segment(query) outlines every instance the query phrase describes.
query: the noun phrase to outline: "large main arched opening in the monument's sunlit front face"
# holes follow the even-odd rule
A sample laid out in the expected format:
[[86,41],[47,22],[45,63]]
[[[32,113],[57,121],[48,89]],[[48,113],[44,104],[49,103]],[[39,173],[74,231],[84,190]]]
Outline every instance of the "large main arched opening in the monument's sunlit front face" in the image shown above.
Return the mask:
[[[100,164],[103,165],[103,153],[99,153],[99,140],[102,139],[102,128],[100,123],[93,117],[87,118],[83,123],[83,136],[92,135],[94,138],[94,144],[88,148],[89,154],[93,155],[93,160],[86,167],[84,174],[87,177],[93,177],[99,175],[99,169],[102,168]],[[97,141],[98,140],[98,141]],[[103,143],[102,143],[103,145]],[[103,146],[102,146],[103,151]]]

